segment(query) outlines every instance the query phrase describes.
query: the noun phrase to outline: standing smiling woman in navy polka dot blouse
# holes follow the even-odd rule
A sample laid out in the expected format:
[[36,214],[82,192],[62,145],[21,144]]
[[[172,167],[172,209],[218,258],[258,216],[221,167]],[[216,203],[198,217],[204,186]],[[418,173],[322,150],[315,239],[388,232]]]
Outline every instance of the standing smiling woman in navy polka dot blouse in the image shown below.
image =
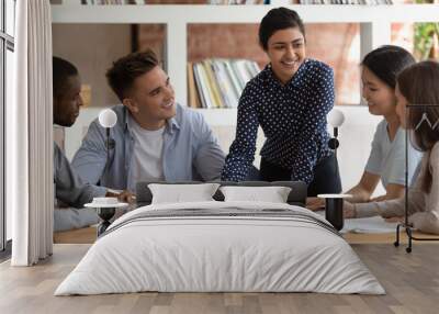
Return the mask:
[[333,69],[306,58],[304,25],[295,11],[270,10],[260,23],[259,42],[270,64],[240,97],[223,180],[248,178],[261,125],[267,137],[260,153],[261,180],[304,181],[308,195],[340,192],[326,131],[326,115],[334,106]]

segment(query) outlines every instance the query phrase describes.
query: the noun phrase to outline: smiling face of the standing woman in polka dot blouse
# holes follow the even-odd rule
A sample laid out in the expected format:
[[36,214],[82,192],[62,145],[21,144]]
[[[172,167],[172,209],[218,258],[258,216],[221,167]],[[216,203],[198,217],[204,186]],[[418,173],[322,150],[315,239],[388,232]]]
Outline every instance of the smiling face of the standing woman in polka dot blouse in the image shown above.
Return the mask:
[[286,83],[305,59],[305,37],[299,27],[279,30],[268,40],[267,55],[274,75]]

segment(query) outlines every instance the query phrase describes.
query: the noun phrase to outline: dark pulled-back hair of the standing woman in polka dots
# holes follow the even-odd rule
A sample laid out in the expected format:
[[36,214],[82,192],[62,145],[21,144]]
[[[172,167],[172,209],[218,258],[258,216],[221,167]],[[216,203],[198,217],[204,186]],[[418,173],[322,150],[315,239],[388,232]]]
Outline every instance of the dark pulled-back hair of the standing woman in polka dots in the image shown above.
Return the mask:
[[271,9],[259,25],[259,44],[267,51],[268,40],[271,35],[277,31],[290,27],[299,27],[303,37],[305,37],[305,26],[297,12],[286,8]]

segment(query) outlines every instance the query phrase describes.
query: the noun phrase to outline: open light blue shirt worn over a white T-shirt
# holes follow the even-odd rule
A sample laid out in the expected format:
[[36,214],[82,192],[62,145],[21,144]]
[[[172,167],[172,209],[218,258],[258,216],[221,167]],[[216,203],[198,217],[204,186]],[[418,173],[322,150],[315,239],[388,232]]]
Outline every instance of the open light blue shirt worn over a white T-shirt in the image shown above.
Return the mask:
[[[225,155],[203,115],[176,104],[177,114],[167,121],[164,134],[162,167],[165,180],[218,180]],[[110,130],[114,148],[106,157],[105,130],[95,119],[82,145],[76,153],[72,167],[86,182],[113,189],[135,186],[130,175],[133,165],[134,136],[128,123],[128,110],[115,105],[117,123]],[[105,167],[105,165],[108,166]],[[133,191],[134,192],[134,191]]]

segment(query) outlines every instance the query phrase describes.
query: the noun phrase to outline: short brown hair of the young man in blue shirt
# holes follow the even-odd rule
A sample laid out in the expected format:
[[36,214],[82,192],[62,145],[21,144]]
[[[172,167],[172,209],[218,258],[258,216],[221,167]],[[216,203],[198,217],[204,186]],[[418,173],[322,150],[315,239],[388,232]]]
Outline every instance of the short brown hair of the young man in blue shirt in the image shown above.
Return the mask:
[[106,71],[109,85],[121,101],[133,87],[134,80],[158,66],[156,54],[151,49],[133,53],[120,58]]

